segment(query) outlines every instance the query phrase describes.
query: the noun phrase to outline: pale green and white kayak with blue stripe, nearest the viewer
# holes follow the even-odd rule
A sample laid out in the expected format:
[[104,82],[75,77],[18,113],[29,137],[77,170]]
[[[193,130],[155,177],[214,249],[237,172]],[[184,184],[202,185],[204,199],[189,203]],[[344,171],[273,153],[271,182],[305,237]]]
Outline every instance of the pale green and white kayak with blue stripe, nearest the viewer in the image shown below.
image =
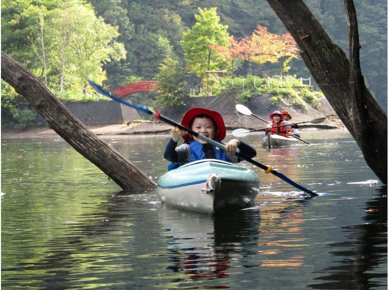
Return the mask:
[[167,205],[209,214],[249,207],[258,192],[255,172],[215,159],[185,164],[158,181],[158,193]]

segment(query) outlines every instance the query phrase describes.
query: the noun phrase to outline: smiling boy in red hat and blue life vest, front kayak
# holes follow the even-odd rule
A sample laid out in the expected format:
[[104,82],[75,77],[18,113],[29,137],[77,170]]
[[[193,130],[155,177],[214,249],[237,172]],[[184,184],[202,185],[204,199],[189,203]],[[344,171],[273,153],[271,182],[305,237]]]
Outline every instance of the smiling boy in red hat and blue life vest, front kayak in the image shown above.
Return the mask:
[[[226,136],[225,123],[222,116],[215,111],[205,108],[190,109],[183,116],[181,124],[219,143]],[[185,142],[177,147],[180,137]],[[230,140],[225,144],[225,147],[226,151],[223,151],[217,146],[208,144],[195,136],[191,136],[187,131],[175,127],[172,130],[171,139],[164,148],[163,157],[171,161],[168,166],[168,170],[171,170],[179,165],[202,159],[218,159],[237,163],[241,161],[235,155],[237,148],[240,149],[245,157],[252,158],[256,156],[256,150],[253,147],[237,139]]]

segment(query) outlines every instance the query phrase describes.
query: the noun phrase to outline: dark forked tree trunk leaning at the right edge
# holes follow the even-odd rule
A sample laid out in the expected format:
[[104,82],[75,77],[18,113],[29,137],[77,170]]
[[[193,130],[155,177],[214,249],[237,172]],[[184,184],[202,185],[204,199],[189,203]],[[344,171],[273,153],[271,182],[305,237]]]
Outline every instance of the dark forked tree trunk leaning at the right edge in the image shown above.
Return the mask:
[[387,184],[387,114],[365,86],[359,66],[356,10],[344,0],[348,16],[350,62],[331,42],[302,0],[267,0],[301,49],[301,56],[323,94],[355,138],[365,161]]

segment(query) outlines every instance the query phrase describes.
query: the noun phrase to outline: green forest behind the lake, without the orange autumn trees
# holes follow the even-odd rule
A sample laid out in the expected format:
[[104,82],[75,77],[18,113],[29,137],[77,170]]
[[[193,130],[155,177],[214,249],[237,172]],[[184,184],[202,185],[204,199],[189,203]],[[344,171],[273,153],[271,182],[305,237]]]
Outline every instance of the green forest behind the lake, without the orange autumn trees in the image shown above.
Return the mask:
[[[332,41],[347,52],[342,1],[305,3]],[[355,5],[362,72],[367,87],[387,112],[387,2],[356,0]],[[214,13],[207,13],[210,11]],[[190,40],[189,35],[198,16],[212,23],[217,34],[238,41],[253,35],[258,25],[275,35],[287,32],[265,0],[3,0],[1,50],[28,67],[62,99],[88,100],[92,89],[87,78],[110,90],[134,81],[168,84],[174,80],[177,85],[165,96],[182,97],[189,95],[189,87],[204,85],[205,69],[195,66],[195,57],[190,58],[190,49],[201,42],[195,35]],[[225,38],[218,44],[223,41]],[[211,61],[208,68],[227,68],[229,77],[231,72],[241,77],[281,75],[284,67],[279,61],[260,65],[241,60],[232,70],[230,62],[216,55]],[[287,62],[288,75],[310,77],[301,58]],[[158,98],[166,100],[144,93],[137,101],[152,107]],[[2,127],[28,123],[33,112],[22,109],[24,104],[26,100],[2,81]]]

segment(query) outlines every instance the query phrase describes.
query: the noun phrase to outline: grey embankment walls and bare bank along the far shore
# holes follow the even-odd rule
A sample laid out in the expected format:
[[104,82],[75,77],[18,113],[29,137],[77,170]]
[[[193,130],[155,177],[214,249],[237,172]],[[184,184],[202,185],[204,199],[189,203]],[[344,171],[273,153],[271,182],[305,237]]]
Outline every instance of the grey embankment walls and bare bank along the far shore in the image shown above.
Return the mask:
[[[223,94],[216,97],[190,97],[184,100],[185,105],[163,108],[161,113],[170,119],[180,121],[183,114],[193,107],[205,107],[221,113],[227,129],[245,128],[257,129],[265,127],[266,123],[253,117],[238,113],[235,109],[236,95]],[[342,122],[336,116],[325,98],[321,99],[318,108],[307,104],[305,108],[291,107],[283,103],[271,105],[269,95],[261,95],[251,98],[245,104],[252,113],[269,120],[269,114],[274,111],[289,111],[293,122],[304,122],[316,118],[326,117],[321,124],[302,124],[301,129],[337,129],[343,128]],[[122,134],[166,134],[171,130],[171,126],[161,122],[150,122],[139,120],[141,116],[133,109],[122,104],[103,101],[93,104],[75,105],[66,104],[84,124],[86,124],[97,135],[122,135]],[[105,116],[105,117],[104,117]],[[146,117],[146,116],[145,116]],[[44,120],[40,122],[45,124]],[[32,128],[26,130],[1,131],[1,138],[51,138],[58,136],[55,131],[46,127]]]

